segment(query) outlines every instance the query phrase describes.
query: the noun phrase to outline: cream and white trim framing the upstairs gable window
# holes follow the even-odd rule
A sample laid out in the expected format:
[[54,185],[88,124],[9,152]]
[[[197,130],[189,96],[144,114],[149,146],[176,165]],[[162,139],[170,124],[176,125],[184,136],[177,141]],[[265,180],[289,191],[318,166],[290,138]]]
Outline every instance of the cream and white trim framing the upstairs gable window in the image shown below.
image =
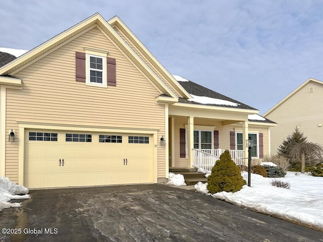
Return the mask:
[[[94,49],[89,47],[84,47],[85,49],[85,75],[86,81],[85,85],[92,87],[103,87],[107,88],[106,81],[106,55],[109,52],[105,49]],[[102,84],[101,83],[91,83],[90,82],[90,56],[102,58]]]

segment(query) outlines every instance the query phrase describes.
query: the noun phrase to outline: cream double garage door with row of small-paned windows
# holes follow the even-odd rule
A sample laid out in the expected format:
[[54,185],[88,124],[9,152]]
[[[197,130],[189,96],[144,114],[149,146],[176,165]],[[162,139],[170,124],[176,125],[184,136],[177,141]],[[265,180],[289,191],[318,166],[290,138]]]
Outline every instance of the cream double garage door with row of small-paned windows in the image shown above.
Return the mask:
[[152,136],[26,130],[25,137],[27,188],[153,182]]

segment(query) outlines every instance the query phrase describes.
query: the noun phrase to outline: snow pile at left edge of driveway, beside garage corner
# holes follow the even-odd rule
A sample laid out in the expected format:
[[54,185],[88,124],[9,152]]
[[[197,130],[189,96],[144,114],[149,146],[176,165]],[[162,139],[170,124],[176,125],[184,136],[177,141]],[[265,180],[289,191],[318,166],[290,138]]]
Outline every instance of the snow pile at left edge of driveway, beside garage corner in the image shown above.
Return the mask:
[[[4,208],[21,207],[21,203],[9,203],[11,199],[29,199],[28,188],[20,186],[8,177],[0,176],[0,212]],[[25,194],[25,195],[21,195]]]

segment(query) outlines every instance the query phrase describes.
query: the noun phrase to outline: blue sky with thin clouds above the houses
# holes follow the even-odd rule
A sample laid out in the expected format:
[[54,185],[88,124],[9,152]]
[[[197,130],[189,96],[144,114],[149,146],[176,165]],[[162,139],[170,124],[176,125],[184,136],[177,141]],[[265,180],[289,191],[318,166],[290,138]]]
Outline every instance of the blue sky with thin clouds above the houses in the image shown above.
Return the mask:
[[260,114],[323,81],[323,1],[2,0],[0,47],[32,49],[96,12],[118,15],[171,74]]

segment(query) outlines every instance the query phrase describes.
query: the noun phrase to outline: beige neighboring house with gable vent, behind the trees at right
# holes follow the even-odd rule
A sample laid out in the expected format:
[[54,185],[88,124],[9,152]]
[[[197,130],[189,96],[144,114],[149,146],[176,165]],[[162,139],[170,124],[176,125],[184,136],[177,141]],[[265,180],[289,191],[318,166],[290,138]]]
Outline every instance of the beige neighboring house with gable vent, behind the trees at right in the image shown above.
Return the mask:
[[309,78],[263,116],[278,124],[271,129],[272,154],[296,127],[308,141],[323,145],[323,82]]

